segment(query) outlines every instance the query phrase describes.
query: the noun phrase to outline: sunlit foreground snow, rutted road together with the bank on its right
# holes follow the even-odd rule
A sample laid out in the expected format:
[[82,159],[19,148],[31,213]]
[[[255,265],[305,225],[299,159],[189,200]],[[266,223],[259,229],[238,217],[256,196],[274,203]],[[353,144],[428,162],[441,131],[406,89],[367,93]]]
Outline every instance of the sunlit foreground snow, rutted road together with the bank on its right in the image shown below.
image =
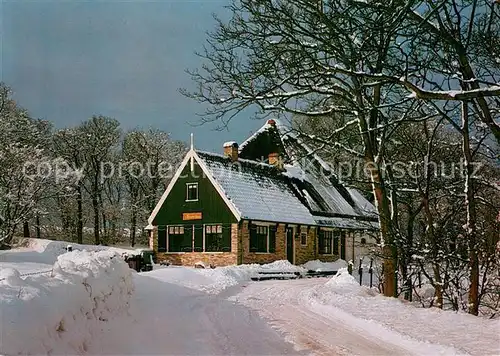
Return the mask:
[[500,354],[500,321],[385,298],[346,270],[331,279],[254,283],[230,299],[318,355]]

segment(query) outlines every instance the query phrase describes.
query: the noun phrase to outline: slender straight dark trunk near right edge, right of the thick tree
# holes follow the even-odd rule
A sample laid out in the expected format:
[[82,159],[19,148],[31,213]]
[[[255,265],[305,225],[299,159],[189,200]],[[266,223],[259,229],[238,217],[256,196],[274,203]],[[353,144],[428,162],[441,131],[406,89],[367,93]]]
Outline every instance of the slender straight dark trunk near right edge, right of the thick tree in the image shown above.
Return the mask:
[[477,255],[476,203],[472,181],[472,152],[469,142],[469,111],[467,102],[462,103],[462,140],[465,159],[465,207],[467,210],[467,246],[469,250],[469,314],[479,313],[479,258]]

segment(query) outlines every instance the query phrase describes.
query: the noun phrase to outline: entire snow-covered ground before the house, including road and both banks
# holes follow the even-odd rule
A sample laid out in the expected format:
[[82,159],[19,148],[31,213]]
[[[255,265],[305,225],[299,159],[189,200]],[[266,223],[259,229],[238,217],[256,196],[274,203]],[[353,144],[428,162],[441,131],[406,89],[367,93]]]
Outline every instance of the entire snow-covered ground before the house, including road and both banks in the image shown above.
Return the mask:
[[[138,274],[112,258],[121,250],[65,247],[35,241],[0,253],[0,354],[500,354],[500,321],[384,298],[342,269],[332,278],[251,281],[262,269],[344,262]],[[51,272],[21,277],[12,267]]]

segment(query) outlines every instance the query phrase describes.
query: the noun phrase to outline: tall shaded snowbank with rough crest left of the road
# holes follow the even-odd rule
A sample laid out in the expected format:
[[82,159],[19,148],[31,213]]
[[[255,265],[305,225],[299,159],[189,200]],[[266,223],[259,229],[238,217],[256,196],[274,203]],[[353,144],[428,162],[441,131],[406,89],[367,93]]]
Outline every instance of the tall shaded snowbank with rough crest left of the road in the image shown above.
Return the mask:
[[82,354],[103,325],[126,315],[132,272],[112,251],[57,257],[51,273],[0,272],[0,354]]

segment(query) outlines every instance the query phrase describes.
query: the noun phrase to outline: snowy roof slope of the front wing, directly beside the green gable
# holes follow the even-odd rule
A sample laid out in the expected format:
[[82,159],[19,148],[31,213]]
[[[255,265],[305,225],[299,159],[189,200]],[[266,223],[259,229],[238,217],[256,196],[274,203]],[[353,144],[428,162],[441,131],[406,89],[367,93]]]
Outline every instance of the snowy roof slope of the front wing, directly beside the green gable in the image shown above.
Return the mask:
[[231,162],[203,151],[197,154],[243,219],[315,224],[288,179],[275,167],[245,159]]

